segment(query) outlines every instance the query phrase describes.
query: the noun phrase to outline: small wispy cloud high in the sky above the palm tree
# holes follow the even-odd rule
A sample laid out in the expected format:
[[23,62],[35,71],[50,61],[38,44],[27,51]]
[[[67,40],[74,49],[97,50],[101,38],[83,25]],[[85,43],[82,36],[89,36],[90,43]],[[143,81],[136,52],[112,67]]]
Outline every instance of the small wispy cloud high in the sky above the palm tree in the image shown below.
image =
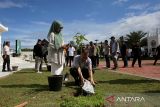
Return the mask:
[[149,3],[144,3],[144,4],[133,4],[129,7],[129,9],[134,9],[134,10],[143,10],[148,8]]

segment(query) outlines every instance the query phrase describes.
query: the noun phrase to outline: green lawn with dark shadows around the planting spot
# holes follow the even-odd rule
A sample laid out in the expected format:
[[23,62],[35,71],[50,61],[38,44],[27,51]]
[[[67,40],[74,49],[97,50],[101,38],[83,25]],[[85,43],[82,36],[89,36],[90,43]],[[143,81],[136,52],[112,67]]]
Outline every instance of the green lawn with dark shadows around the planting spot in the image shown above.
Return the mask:
[[[67,72],[68,69],[65,69]],[[78,96],[74,94],[79,87],[74,86],[72,77],[62,88],[62,91],[49,91],[47,77],[50,72],[37,74],[32,69],[0,78],[0,107],[13,107],[27,101],[27,107],[102,107],[108,93],[160,93],[160,81],[145,79],[96,70],[97,81],[95,95]]]

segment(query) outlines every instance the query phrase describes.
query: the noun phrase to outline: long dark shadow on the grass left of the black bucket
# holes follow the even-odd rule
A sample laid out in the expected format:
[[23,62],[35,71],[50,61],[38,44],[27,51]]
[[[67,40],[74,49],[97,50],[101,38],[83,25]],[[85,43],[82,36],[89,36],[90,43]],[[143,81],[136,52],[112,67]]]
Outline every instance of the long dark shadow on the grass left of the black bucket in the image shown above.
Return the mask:
[[16,85],[0,85],[1,88],[30,88],[35,91],[48,91],[48,85],[41,85],[41,84],[16,84]]

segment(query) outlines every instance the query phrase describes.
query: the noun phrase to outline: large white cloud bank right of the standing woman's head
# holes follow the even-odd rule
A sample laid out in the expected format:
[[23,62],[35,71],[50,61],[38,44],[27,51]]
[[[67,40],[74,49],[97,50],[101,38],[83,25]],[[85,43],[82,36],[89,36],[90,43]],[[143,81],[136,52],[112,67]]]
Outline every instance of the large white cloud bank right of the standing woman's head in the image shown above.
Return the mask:
[[95,39],[104,41],[105,39],[109,39],[112,35],[118,37],[137,30],[151,32],[160,26],[159,19],[160,12],[154,12],[123,18],[112,23],[98,24],[87,21],[76,21],[64,25],[64,35],[66,34],[66,41],[71,40],[77,32],[86,34],[89,41],[94,41]]

